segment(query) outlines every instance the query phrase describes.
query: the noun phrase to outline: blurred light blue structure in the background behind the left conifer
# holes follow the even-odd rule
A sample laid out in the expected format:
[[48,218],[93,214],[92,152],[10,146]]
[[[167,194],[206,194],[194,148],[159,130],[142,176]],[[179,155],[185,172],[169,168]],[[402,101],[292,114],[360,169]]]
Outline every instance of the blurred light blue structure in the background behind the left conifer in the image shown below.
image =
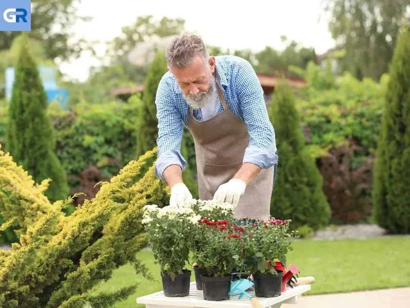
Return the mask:
[[[61,108],[67,110],[68,108],[68,92],[65,88],[58,88],[55,81],[56,70],[53,67],[39,66],[40,78],[46,90],[48,103],[55,101]],[[14,67],[6,68],[6,99],[11,99],[14,83]]]

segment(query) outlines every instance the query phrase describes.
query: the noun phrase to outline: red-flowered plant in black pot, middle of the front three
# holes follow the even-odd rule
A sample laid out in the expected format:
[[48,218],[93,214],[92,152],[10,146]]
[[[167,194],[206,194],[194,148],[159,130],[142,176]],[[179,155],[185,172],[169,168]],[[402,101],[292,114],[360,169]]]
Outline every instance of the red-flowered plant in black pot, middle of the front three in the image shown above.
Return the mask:
[[243,235],[227,220],[204,218],[199,226],[204,232],[196,239],[196,257],[206,269],[206,274],[201,274],[204,299],[228,300],[231,271],[241,262]]

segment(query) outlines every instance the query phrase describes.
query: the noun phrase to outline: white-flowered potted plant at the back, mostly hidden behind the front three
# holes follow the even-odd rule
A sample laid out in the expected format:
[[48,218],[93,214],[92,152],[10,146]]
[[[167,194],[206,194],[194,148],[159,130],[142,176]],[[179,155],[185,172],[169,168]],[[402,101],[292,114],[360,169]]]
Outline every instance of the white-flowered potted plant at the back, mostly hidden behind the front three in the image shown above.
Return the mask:
[[[213,200],[195,200],[187,202],[185,207],[191,208],[196,214],[198,214],[201,219],[208,221],[231,221],[233,219],[233,206],[228,203],[218,203]],[[192,264],[192,269],[195,275],[195,281],[197,289],[202,289],[201,275],[207,273],[206,268],[202,261],[198,258],[198,253],[201,251],[201,246],[203,244],[204,233],[207,232],[207,225],[205,223],[196,224],[191,232],[191,251],[192,259],[194,263]]]

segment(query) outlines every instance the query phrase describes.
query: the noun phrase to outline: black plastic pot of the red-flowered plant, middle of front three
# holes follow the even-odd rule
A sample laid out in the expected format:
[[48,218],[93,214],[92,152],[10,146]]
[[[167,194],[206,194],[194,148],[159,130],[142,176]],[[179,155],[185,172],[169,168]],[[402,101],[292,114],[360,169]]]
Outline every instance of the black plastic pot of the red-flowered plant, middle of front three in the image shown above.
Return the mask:
[[231,275],[224,277],[209,277],[201,274],[205,300],[220,301],[229,299]]

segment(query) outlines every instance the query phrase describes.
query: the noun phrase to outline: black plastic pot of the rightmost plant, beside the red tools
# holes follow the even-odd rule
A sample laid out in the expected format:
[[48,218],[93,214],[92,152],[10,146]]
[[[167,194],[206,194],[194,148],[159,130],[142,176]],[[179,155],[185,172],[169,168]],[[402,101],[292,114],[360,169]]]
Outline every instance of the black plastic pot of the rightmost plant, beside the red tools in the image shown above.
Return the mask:
[[276,270],[277,275],[256,273],[253,275],[255,295],[257,297],[277,297],[281,295],[283,270]]

